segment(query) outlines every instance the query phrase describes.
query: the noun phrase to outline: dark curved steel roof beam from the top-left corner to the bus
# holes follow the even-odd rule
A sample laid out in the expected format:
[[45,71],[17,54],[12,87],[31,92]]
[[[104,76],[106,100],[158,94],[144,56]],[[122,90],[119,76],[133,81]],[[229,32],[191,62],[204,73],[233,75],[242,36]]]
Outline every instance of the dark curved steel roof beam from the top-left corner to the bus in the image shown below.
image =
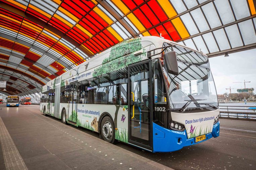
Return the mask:
[[89,57],[92,57],[92,54],[87,50],[85,49],[83,46],[81,46],[78,42],[76,42],[74,39],[72,39],[71,37],[65,35],[64,33],[62,33],[60,30],[58,30],[57,28],[51,26],[50,24],[47,24],[46,22],[42,21],[41,19],[31,15],[31,14],[28,14],[18,8],[15,8],[11,5],[8,5],[6,3],[1,3],[0,4],[0,7],[5,9],[5,10],[8,10],[10,12],[13,12],[17,15],[20,15],[21,17],[24,17],[32,22],[35,22],[37,23],[38,25],[41,25],[42,27],[52,31],[53,33],[57,34],[58,36],[60,36],[61,38],[64,38],[65,40],[67,40],[69,43],[71,43],[72,45],[74,45],[75,47],[79,48],[81,51],[83,51],[86,55],[88,55]]

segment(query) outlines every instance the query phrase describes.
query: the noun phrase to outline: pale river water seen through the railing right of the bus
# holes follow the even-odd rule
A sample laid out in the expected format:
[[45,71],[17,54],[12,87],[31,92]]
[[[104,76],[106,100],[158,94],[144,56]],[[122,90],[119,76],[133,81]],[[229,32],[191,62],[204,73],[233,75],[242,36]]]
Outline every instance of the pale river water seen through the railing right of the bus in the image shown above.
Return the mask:
[[[219,103],[219,109],[221,117],[227,117],[227,113],[221,113],[222,111],[228,112],[241,112],[238,114],[239,118],[247,118],[247,116],[252,117],[249,119],[256,119],[256,110],[249,109],[256,108],[256,102],[247,102],[245,103]],[[248,109],[248,110],[244,110]],[[222,116],[223,115],[223,116]],[[237,114],[229,113],[229,116],[237,117]]]

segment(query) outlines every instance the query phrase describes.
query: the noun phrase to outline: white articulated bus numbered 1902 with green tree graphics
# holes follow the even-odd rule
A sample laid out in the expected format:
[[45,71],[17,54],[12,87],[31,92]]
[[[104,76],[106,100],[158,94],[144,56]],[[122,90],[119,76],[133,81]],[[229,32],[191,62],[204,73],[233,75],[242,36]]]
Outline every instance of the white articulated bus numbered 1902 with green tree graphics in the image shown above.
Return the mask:
[[155,36],[123,41],[49,81],[40,110],[150,152],[219,136],[208,57]]

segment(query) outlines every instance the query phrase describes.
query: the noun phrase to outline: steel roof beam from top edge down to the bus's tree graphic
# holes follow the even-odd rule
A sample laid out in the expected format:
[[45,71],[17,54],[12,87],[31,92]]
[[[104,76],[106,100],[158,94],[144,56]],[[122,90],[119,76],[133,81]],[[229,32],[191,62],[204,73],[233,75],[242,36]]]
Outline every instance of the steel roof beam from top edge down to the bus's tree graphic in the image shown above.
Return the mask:
[[135,38],[138,37],[137,33],[134,31],[134,29],[124,20],[122,19],[122,16],[120,16],[118,14],[118,12],[116,12],[114,10],[114,8],[112,6],[110,6],[106,1],[102,1],[102,0],[96,0],[101,6],[103,6],[111,15],[113,15],[113,17],[116,18],[117,21],[120,22],[120,24],[122,24],[122,26]]

